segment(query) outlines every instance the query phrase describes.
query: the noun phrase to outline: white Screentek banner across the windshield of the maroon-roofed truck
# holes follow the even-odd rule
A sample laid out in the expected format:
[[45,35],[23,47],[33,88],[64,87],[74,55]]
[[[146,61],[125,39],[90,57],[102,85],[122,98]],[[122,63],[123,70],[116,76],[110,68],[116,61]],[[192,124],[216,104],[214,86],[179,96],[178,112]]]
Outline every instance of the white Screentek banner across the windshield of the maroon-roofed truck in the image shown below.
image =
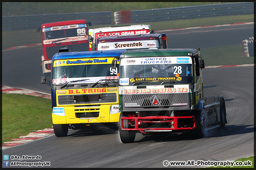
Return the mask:
[[158,40],[140,40],[140,41],[119,41],[119,42],[100,42],[97,50],[119,50],[119,49],[149,49],[160,48]]

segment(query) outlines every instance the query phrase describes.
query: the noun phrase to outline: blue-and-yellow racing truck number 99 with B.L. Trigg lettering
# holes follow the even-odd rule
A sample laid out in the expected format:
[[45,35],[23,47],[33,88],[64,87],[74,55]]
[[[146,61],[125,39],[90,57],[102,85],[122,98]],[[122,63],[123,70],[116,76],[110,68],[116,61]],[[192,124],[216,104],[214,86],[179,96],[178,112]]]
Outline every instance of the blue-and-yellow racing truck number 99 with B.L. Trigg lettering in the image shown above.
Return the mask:
[[119,121],[118,67],[112,61],[127,50],[69,52],[60,49],[53,56],[51,86],[54,134],[63,137],[81,124],[102,123],[108,127]]

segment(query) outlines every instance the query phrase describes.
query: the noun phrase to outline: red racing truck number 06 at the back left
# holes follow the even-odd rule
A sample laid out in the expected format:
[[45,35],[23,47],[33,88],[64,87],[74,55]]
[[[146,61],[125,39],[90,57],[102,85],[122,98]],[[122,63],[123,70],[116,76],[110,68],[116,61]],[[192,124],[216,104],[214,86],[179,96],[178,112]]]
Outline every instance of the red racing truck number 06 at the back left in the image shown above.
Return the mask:
[[69,51],[89,51],[88,29],[84,19],[60,21],[42,24],[41,31],[43,55],[43,73],[49,73],[52,68],[52,57],[59,49],[65,47]]

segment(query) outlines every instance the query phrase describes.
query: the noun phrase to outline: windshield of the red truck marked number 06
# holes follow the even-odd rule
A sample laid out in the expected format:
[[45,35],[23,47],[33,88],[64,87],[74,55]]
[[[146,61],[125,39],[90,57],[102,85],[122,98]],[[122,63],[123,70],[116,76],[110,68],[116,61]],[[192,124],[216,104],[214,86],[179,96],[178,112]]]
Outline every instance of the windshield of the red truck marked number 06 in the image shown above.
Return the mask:
[[44,44],[52,44],[58,42],[86,40],[88,39],[86,33],[86,24],[44,28],[43,42]]

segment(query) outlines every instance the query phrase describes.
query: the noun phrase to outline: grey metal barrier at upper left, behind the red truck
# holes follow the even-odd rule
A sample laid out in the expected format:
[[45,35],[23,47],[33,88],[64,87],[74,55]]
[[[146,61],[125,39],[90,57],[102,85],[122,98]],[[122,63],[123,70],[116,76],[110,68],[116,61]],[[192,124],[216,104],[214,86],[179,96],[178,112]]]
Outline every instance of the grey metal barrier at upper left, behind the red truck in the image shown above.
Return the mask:
[[2,17],[2,31],[36,29],[44,23],[75,19],[85,19],[93,25],[111,24],[111,11]]

